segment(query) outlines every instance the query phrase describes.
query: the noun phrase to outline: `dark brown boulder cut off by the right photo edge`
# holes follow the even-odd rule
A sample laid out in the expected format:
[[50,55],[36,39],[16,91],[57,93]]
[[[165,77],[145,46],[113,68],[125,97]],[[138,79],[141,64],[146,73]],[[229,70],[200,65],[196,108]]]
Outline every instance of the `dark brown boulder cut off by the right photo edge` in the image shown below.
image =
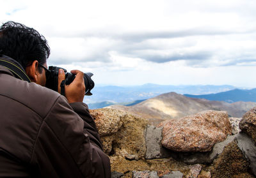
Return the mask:
[[256,107],[243,115],[239,128],[256,142]]

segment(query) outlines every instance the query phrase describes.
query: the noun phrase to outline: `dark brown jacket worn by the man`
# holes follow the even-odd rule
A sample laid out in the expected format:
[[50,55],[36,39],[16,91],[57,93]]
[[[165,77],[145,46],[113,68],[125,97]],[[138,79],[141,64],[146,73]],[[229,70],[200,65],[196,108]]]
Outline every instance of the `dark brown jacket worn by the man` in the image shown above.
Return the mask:
[[0,66],[0,177],[111,177],[87,105]]

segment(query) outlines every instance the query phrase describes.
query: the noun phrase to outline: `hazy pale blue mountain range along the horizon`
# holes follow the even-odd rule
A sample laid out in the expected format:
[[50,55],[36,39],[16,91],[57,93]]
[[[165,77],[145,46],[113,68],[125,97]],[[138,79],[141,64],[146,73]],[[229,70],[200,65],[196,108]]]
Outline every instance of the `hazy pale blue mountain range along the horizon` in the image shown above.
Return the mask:
[[159,94],[173,91],[180,94],[210,94],[229,91],[236,87],[231,85],[134,85],[134,86],[102,86],[95,84],[92,96],[85,96],[84,103],[129,103],[136,100],[147,100]]

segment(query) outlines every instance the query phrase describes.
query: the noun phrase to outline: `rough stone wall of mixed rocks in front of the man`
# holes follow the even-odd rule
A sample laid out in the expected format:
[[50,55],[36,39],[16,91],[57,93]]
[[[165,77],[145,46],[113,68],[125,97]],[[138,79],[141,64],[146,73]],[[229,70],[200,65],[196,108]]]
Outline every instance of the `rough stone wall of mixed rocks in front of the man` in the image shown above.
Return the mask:
[[112,177],[202,178],[255,177],[255,110],[241,121],[227,112],[204,111],[159,127],[111,108],[90,113],[111,160]]

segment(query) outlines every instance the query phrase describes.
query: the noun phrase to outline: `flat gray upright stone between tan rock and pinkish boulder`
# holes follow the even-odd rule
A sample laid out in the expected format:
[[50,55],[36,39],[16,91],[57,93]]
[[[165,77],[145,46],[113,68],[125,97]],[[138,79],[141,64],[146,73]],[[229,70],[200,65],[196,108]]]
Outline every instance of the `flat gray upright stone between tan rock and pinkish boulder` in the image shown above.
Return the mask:
[[163,128],[148,126],[145,131],[146,138],[146,159],[166,158],[170,156],[170,151],[161,144]]

